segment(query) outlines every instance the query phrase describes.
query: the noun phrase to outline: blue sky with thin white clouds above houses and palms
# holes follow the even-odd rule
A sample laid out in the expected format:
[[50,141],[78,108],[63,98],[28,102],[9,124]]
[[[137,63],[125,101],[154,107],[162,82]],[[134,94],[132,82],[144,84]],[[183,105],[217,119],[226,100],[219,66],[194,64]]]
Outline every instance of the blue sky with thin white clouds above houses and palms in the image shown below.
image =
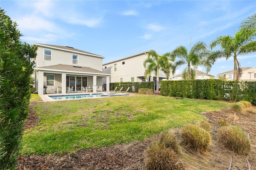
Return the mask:
[[[1,8],[16,21],[23,42],[70,46],[105,57],[103,63],[136,53],[159,54],[218,36],[234,36],[240,23],[256,13],[255,0],[242,1],[11,1]],[[256,66],[256,53],[238,57],[242,67]],[[234,67],[219,59],[209,72]],[[176,74],[182,72],[180,67]],[[204,67],[198,70],[205,71]]]

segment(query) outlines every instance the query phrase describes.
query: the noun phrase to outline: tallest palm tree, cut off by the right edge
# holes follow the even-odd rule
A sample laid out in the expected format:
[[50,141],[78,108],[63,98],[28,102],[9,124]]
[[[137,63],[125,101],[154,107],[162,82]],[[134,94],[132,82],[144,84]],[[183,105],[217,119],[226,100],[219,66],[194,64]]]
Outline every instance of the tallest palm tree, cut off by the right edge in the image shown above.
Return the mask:
[[241,29],[236,32],[235,36],[219,36],[210,43],[210,48],[213,49],[220,45],[221,49],[213,51],[208,57],[208,61],[212,64],[219,58],[234,59],[234,77],[233,80],[238,80],[241,76],[242,69],[238,61],[238,55],[246,55],[256,52],[256,15],[248,17],[248,20],[242,22]]

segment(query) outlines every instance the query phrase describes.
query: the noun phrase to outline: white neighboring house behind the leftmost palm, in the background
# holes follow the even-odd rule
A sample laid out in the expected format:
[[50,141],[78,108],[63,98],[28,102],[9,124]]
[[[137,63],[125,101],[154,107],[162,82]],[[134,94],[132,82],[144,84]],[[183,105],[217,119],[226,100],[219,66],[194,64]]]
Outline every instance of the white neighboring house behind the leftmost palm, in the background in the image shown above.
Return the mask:
[[[103,71],[111,74],[110,83],[147,81],[146,77],[144,77],[145,68],[143,67],[143,62],[147,58],[147,53],[148,51],[144,51],[103,64]],[[162,71],[159,71],[159,81],[162,81],[163,79],[166,79],[166,75]],[[151,77],[148,77],[148,81],[155,80],[156,75],[152,72]],[[103,81],[105,82],[105,78]]]

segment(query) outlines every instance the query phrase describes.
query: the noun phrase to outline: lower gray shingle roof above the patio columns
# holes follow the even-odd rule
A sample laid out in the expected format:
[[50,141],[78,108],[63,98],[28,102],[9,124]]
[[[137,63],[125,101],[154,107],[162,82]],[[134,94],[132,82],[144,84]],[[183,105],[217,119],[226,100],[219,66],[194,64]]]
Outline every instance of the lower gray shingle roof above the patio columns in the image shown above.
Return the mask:
[[66,65],[66,64],[57,64],[49,65],[44,67],[38,67],[40,69],[53,69],[53,70],[65,70],[65,71],[76,71],[76,72],[85,72],[85,73],[99,73],[99,74],[108,74],[103,71],[92,69],[91,67],[81,67],[75,65]]

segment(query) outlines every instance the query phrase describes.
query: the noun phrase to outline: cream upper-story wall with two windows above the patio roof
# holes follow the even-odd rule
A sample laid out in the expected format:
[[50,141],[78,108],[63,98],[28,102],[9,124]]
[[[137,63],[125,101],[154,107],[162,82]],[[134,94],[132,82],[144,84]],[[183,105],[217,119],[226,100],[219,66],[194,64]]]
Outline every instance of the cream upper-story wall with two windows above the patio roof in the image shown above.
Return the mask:
[[102,59],[104,58],[102,56],[36,45],[38,46],[36,67],[66,64],[102,70]]

